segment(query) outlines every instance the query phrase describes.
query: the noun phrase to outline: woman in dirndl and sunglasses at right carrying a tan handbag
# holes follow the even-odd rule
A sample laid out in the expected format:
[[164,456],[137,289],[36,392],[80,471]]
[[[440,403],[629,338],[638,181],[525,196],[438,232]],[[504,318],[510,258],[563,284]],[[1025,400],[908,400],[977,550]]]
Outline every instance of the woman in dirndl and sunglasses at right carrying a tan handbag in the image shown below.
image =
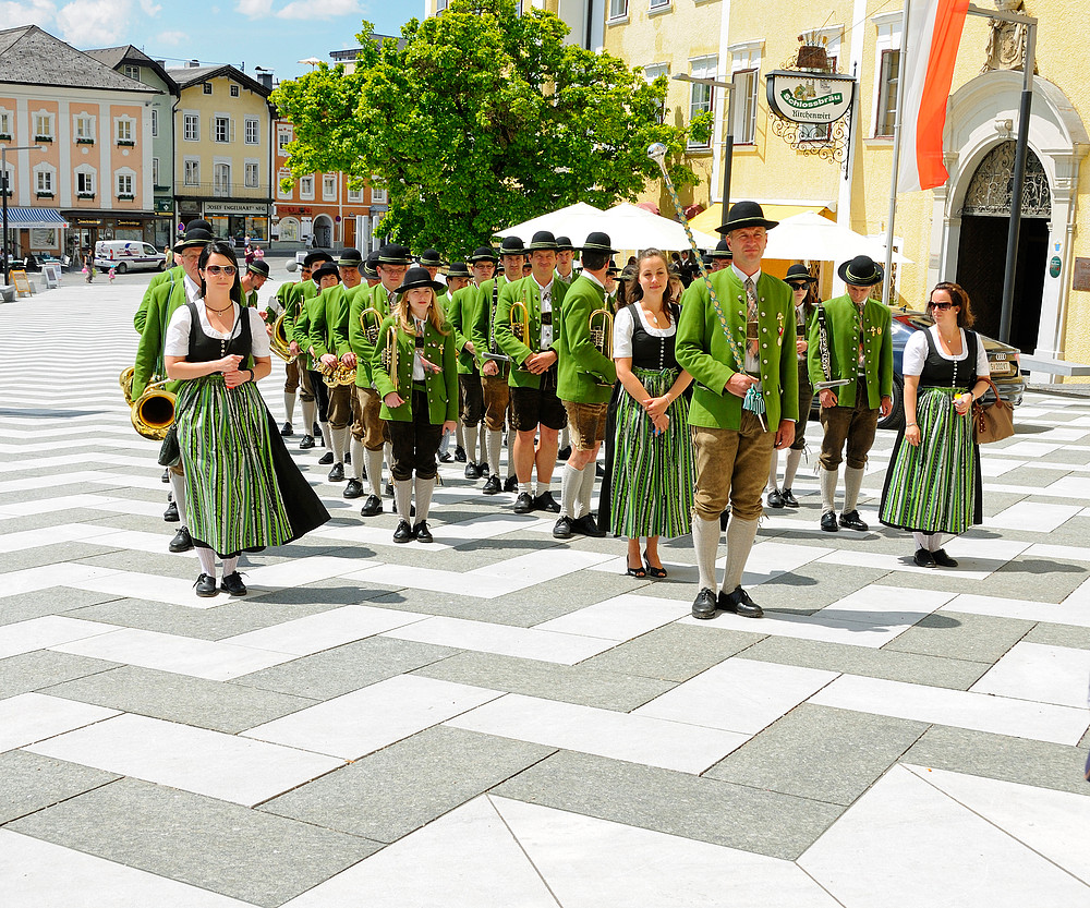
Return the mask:
[[988,354],[980,336],[968,330],[972,310],[958,284],[936,284],[928,311],[934,324],[905,346],[905,428],[879,519],[912,532],[913,560],[921,568],[956,568],[944,544],[982,520],[972,403],[988,390]]

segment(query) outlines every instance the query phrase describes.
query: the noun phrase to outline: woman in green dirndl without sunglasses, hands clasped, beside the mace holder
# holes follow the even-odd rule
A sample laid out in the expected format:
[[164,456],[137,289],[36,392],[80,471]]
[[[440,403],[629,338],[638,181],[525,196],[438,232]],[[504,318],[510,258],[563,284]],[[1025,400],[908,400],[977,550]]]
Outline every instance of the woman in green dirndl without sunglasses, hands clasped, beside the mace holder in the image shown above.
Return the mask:
[[666,256],[644,250],[626,293],[629,302],[614,319],[620,384],[610,404],[614,428],[600,525],[628,537],[626,573],[637,578],[666,577],[658,537],[675,538],[691,530],[697,473],[683,391],[692,376],[674,355],[681,308],[670,286]]

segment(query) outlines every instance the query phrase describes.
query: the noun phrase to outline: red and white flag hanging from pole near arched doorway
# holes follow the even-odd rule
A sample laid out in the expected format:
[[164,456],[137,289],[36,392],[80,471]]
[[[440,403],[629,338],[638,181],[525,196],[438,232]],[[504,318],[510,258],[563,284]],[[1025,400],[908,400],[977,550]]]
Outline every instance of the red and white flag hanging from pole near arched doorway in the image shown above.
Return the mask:
[[[906,0],[909,2],[909,0]],[[916,0],[901,46],[904,110],[897,192],[941,186],[946,99],[969,0]]]

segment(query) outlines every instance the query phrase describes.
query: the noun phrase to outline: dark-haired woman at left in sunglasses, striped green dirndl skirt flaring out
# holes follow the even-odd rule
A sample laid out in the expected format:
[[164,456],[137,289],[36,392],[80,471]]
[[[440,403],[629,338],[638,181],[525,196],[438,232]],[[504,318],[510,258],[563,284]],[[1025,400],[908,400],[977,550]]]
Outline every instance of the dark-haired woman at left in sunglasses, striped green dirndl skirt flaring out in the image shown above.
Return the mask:
[[256,308],[242,305],[230,244],[205,246],[202,299],[175,310],[167,327],[167,376],[182,380],[174,427],[185,468],[185,520],[201,561],[198,596],[245,595],[239,556],[284,545],[329,513],[300,474],[257,390],[271,371],[269,338]]

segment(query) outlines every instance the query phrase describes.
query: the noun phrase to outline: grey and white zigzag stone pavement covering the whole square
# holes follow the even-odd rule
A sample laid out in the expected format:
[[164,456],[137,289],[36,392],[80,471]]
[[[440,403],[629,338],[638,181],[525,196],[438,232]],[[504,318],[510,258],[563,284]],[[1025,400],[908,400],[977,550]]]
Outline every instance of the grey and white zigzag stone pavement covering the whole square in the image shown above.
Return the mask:
[[1090,905],[1090,400],[983,451],[956,570],[877,528],[888,433],[870,532],[804,468],[761,621],[460,465],[393,545],[295,445],[334,519],[199,600],[117,384],[140,283],[65,283],[0,307],[5,908]]

